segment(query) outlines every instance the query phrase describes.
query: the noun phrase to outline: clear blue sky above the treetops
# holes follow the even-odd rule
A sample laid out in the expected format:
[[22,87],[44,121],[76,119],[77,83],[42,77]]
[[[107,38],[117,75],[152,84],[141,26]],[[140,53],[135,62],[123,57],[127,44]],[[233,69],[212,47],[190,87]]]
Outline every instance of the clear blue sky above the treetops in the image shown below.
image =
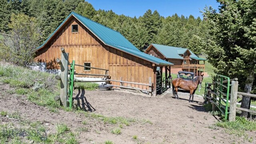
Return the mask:
[[124,14],[138,18],[143,16],[147,10],[157,10],[161,16],[167,17],[177,13],[185,17],[192,14],[195,18],[200,16],[205,6],[218,9],[216,0],[86,0],[91,3],[95,10],[112,10],[116,14]]

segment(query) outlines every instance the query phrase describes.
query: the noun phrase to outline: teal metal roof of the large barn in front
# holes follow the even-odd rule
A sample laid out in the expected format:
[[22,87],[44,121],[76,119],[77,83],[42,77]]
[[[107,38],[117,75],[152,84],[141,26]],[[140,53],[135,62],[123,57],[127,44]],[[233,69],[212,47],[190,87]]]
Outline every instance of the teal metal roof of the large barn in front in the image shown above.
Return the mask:
[[68,18],[70,18],[70,16],[74,16],[76,19],[78,19],[84,26],[86,26],[86,28],[88,28],[95,36],[97,36],[104,44],[108,46],[114,47],[118,50],[124,51],[128,54],[132,54],[139,58],[148,60],[149,62],[152,62],[157,65],[173,65],[172,63],[166,62],[165,60],[161,60],[160,58],[156,58],[154,56],[150,56],[148,54],[140,52],[138,48],[136,48],[119,32],[112,30],[111,28],[108,28],[106,26],[103,26],[102,24],[99,24],[97,22],[94,22],[75,12],[71,12],[69,16],[60,24],[60,26],[58,26],[58,28],[46,39],[46,41],[37,48],[37,50],[42,48],[50,40],[50,38],[68,20]]

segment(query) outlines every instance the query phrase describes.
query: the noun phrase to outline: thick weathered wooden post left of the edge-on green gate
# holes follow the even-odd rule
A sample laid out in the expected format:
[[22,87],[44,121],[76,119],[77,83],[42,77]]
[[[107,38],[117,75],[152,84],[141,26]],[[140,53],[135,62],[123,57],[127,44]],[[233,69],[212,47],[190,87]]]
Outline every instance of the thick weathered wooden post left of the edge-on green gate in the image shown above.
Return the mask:
[[64,48],[61,48],[61,62],[60,64],[60,105],[67,107],[68,98],[68,53]]

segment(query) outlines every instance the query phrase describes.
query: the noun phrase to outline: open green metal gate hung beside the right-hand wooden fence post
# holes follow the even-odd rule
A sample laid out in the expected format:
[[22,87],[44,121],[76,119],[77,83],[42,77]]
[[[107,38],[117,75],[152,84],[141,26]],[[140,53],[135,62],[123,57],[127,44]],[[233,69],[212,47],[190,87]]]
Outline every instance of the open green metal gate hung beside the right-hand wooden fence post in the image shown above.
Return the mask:
[[[219,80],[219,81],[218,81]],[[228,117],[228,99],[229,99],[229,91],[230,91],[230,78],[227,76],[222,76],[217,74],[214,82],[214,95],[213,102],[225,115],[225,120]],[[226,100],[224,100],[226,97]]]

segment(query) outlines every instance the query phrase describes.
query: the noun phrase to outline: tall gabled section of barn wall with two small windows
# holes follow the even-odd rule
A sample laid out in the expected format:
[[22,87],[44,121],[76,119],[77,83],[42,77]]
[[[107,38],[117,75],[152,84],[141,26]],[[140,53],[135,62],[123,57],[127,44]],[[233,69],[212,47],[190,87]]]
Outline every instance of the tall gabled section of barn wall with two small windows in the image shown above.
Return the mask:
[[[72,33],[73,24],[78,24],[78,32]],[[69,61],[75,60],[76,64],[83,65],[91,62],[92,67],[108,69],[108,50],[102,46],[102,42],[92,34],[78,20],[73,18],[54,36],[50,46],[37,52],[36,61],[46,62],[47,69],[60,69],[56,58],[60,58],[60,48],[65,48],[69,53]],[[76,72],[86,74],[105,74],[104,70],[91,69],[84,71],[83,67],[75,66]],[[79,77],[79,76],[78,76]],[[80,76],[83,77],[83,76]],[[88,76],[95,77],[95,76]]]

